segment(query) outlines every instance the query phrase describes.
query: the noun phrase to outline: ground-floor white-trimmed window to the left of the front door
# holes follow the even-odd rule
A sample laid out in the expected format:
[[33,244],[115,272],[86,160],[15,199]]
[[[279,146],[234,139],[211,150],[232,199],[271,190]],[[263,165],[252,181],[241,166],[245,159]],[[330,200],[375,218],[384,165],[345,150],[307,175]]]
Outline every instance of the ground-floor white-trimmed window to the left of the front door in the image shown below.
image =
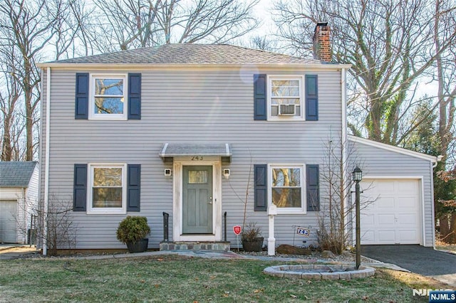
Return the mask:
[[88,213],[126,213],[126,164],[89,164]]

